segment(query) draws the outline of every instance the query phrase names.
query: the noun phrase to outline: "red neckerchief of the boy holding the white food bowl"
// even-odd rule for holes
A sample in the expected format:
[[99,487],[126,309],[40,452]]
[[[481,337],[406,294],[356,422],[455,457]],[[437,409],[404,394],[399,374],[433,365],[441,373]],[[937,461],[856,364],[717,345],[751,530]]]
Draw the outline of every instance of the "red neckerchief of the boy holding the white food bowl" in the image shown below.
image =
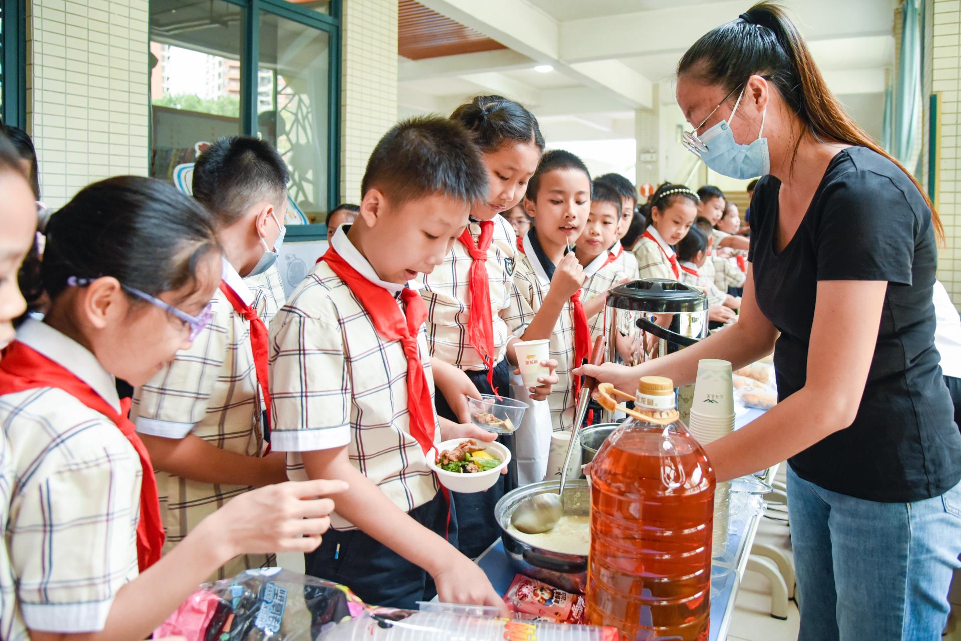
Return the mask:
[[[328,248],[323,260],[334,274],[347,284],[351,292],[357,296],[360,307],[367,311],[374,329],[383,340],[400,340],[404,346],[404,356],[407,357],[407,412],[409,418],[410,435],[413,436],[427,455],[433,448],[434,409],[431,399],[431,388],[427,383],[424,363],[420,359],[420,349],[417,346],[417,333],[427,321],[427,306],[424,299],[414,289],[405,287],[401,290],[401,301],[404,311],[397,307],[397,301],[379,284],[368,281],[360,272],[343,259],[333,245]],[[487,308],[490,308],[488,305]],[[447,501],[447,533],[451,528],[451,493],[440,484],[440,491]]]

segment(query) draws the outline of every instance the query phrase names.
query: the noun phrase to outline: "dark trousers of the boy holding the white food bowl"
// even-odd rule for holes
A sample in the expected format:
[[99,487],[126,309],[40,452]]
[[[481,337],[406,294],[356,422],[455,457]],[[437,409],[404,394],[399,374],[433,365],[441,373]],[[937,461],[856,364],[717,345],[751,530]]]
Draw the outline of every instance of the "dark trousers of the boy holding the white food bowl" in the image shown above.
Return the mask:
[[[447,500],[441,492],[407,514],[440,536],[447,530]],[[454,506],[447,540],[456,547]],[[304,566],[311,577],[346,585],[368,605],[417,609],[418,601],[431,601],[437,594],[431,575],[423,568],[360,530],[328,530],[320,547],[304,555]]]

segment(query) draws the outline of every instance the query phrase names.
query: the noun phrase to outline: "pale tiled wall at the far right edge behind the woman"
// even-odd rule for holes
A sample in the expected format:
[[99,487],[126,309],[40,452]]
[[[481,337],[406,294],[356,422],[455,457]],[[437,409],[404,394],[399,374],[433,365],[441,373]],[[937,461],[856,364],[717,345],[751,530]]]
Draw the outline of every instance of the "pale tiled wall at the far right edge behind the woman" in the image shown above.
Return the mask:
[[[961,136],[958,91],[961,82],[961,0],[934,0],[931,34],[931,90],[941,94],[941,162],[937,205],[947,247],[938,254],[938,278],[961,310]],[[926,145],[925,145],[926,153]]]

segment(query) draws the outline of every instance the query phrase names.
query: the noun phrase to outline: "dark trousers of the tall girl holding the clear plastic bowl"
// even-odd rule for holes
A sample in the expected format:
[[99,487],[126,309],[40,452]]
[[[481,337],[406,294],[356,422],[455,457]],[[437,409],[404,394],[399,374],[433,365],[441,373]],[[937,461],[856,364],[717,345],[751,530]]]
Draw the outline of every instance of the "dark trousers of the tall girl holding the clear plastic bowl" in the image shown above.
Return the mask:
[[[464,372],[471,381],[477,386],[481,394],[492,394],[490,383],[487,382],[487,372]],[[508,396],[510,393],[510,365],[506,360],[502,360],[494,366],[494,386],[501,396]],[[434,405],[437,407],[437,415],[457,420],[454,410],[447,404],[447,399],[439,392],[434,395]],[[477,558],[480,554],[490,547],[501,536],[501,529],[494,518],[494,505],[507,492],[517,487],[517,463],[514,457],[514,436],[505,434],[498,436],[498,442],[502,443],[511,453],[510,463],[507,464],[507,474],[502,475],[497,483],[486,492],[475,492],[473,494],[461,494],[451,492],[454,505],[457,506],[457,523],[460,529],[458,537],[459,550],[469,558]]]

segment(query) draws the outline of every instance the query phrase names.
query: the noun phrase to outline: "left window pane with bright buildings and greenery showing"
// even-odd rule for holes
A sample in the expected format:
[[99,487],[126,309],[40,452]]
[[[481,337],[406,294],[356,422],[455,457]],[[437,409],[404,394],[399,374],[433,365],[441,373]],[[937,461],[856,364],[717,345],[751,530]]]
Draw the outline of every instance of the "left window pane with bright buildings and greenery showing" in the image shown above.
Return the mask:
[[[198,142],[240,132],[240,23],[223,0],[151,0],[151,175],[171,180]],[[188,179],[188,177],[186,177]]]

